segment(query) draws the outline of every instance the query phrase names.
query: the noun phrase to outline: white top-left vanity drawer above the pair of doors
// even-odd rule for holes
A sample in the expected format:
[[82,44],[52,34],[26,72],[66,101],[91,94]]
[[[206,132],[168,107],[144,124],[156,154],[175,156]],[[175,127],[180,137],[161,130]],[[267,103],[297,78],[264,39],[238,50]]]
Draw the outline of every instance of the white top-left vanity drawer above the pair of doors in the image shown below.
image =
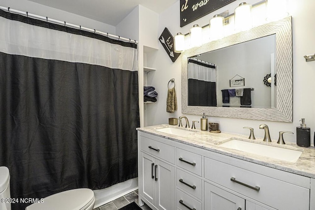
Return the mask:
[[146,137],[140,138],[140,149],[170,163],[175,163],[175,148]]

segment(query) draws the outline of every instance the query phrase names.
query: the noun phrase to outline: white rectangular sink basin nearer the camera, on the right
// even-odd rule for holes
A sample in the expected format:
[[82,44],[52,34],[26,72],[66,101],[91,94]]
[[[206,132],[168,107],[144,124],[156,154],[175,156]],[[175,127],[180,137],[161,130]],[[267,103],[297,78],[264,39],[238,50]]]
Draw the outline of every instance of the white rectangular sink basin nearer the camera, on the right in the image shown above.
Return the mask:
[[236,139],[231,139],[220,145],[224,148],[234,149],[249,152],[252,154],[258,154],[266,157],[276,158],[279,160],[285,160],[295,163],[302,151],[299,150],[290,150],[285,148],[278,148],[268,145],[261,145],[252,142],[240,141]]

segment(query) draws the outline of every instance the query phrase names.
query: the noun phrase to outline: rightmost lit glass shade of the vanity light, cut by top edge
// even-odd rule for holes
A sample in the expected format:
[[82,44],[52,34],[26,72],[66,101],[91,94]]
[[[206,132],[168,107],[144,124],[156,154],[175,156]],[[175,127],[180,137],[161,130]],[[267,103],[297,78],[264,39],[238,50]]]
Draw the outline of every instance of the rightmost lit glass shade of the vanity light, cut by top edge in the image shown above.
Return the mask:
[[266,0],[267,21],[277,21],[289,15],[287,12],[287,0]]

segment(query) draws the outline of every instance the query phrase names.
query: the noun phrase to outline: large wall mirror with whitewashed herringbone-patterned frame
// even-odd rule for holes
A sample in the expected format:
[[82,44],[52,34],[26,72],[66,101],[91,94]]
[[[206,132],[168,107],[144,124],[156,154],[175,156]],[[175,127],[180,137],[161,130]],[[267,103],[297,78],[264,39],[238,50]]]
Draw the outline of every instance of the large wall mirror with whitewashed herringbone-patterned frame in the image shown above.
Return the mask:
[[292,122],[291,17],[182,56],[185,114]]

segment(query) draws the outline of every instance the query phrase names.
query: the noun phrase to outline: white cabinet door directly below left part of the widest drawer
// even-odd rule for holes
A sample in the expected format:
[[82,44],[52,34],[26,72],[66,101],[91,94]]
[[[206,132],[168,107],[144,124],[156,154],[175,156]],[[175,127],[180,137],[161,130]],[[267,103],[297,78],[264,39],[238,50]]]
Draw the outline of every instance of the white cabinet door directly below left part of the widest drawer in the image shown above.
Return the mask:
[[205,182],[205,210],[245,210],[245,199]]

